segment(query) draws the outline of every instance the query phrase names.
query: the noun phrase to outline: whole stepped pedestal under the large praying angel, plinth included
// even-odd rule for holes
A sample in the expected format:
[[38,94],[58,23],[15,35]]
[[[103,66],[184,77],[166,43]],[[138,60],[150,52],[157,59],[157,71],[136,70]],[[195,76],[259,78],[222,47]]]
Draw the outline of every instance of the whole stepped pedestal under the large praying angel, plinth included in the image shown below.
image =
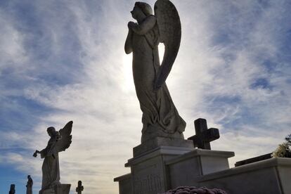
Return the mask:
[[169,189],[169,171],[165,163],[179,155],[188,153],[193,142],[180,138],[154,138],[134,148],[134,157],[125,167],[131,173],[119,176],[119,194],[152,194],[163,193]]

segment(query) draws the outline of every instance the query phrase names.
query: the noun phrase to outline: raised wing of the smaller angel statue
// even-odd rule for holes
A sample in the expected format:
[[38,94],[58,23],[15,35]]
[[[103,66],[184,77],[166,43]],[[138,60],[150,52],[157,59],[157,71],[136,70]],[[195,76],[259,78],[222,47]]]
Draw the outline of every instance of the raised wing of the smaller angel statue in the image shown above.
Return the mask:
[[58,152],[65,151],[72,143],[72,121],[68,122],[63,129],[60,129],[60,140],[56,144]]

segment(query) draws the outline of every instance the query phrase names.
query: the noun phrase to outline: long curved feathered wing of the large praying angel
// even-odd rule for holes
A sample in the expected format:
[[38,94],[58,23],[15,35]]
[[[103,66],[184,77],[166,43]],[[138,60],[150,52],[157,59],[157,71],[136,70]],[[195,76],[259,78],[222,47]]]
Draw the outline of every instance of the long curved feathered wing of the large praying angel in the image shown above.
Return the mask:
[[160,30],[160,42],[164,43],[164,58],[155,79],[155,89],[158,89],[166,81],[178,54],[181,22],[178,11],[169,0],[155,2],[155,16]]

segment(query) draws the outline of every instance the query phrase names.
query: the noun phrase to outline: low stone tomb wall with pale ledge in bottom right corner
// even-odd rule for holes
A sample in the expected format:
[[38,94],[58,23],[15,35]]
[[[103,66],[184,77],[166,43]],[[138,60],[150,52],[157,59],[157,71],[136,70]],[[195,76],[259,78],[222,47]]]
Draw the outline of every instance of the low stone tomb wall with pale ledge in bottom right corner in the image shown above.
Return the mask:
[[271,158],[207,174],[195,179],[198,186],[222,188],[228,193],[290,193],[291,159]]

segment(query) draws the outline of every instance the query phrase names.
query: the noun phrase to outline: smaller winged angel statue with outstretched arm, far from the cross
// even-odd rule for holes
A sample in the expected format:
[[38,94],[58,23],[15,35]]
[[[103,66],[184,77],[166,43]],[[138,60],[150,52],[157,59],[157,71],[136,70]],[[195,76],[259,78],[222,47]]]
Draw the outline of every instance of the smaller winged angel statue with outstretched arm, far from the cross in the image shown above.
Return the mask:
[[48,132],[48,136],[51,137],[48,140],[48,145],[46,145],[46,148],[41,151],[36,150],[33,154],[34,157],[37,157],[37,154],[40,154],[41,158],[44,158],[44,163],[41,167],[41,190],[53,188],[53,186],[60,184],[58,153],[65,151],[65,149],[69,148],[72,143],[72,123],[72,121],[68,122],[63,129],[60,129],[60,131],[56,131],[54,127],[48,127],[46,131]]

